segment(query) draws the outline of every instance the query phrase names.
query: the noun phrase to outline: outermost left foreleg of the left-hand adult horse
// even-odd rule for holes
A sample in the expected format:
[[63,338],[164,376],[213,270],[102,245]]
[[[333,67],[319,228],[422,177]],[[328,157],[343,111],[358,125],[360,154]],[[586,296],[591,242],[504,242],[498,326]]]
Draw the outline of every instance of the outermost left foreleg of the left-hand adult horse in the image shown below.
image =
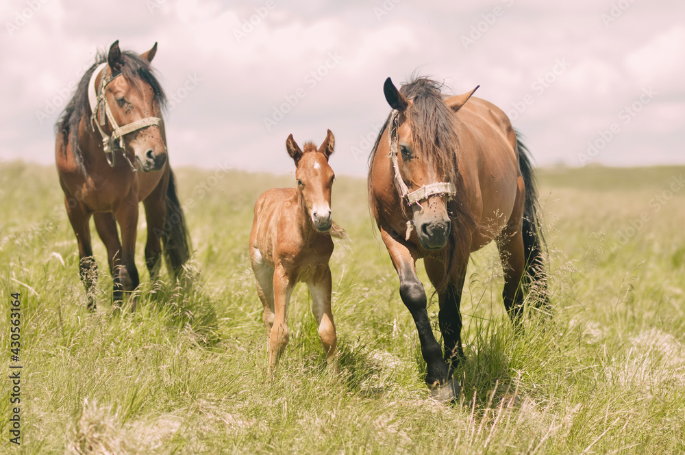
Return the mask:
[[[71,205],[73,207],[71,207]],[[76,242],[79,246],[79,275],[81,281],[86,286],[86,298],[88,299],[88,309],[95,309],[95,283],[97,283],[97,264],[92,257],[92,242],[90,239],[90,213],[86,207],[76,202],[72,196],[64,196],[66,214],[69,216],[71,227],[76,235]]]

